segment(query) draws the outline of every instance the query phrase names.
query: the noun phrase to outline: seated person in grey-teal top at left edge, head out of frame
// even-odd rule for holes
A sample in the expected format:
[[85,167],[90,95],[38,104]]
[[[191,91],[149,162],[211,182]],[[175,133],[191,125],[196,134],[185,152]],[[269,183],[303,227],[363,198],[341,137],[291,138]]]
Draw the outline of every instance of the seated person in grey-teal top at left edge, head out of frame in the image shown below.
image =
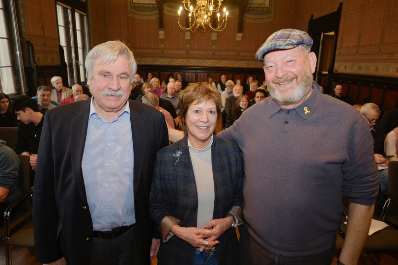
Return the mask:
[[[0,212],[15,201],[21,190],[18,186],[19,159],[14,150],[5,145],[0,139]],[[0,226],[2,222],[0,222]]]

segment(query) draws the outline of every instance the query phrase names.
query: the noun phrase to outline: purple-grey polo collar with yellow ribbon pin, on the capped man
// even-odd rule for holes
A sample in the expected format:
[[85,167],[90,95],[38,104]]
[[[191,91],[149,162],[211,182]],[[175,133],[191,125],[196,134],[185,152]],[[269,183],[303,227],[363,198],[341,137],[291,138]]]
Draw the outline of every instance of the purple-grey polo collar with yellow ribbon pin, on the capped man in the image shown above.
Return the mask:
[[320,91],[320,87],[317,83],[315,83],[313,81],[312,84],[312,89],[313,89],[313,93],[310,95],[310,97],[308,97],[308,99],[306,99],[302,104],[300,104],[299,106],[296,106],[295,108],[291,108],[291,109],[285,109],[281,106],[279,106],[278,103],[276,103],[275,101],[273,101],[271,99],[271,104],[269,106],[269,118],[272,117],[275,113],[281,111],[281,110],[289,110],[289,111],[296,111],[303,119],[307,120],[308,118],[310,118],[310,116],[313,114],[314,110],[316,109],[316,107],[319,105],[320,102],[320,98],[321,98],[321,94],[322,92]]

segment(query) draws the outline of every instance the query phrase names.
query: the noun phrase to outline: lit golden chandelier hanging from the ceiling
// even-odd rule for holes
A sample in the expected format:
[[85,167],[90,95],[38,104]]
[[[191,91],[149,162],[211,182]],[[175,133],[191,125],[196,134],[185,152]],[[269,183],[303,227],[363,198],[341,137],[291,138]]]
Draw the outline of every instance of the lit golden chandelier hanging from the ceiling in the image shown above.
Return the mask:
[[[213,4],[213,0],[197,0],[195,8],[191,4],[191,0],[182,0],[184,6],[184,12],[188,13],[189,27],[185,27],[186,23],[181,25],[180,17],[183,12],[183,6],[180,6],[178,10],[178,26],[184,30],[195,31],[200,28],[202,31],[206,31],[210,28],[213,31],[222,31],[227,27],[228,11],[227,8],[223,9],[223,17],[220,18],[219,10],[221,9],[221,2],[223,0],[217,0],[217,7]],[[217,13],[217,15],[216,15]],[[217,16],[217,22],[215,20]],[[213,19],[212,19],[213,17]]]

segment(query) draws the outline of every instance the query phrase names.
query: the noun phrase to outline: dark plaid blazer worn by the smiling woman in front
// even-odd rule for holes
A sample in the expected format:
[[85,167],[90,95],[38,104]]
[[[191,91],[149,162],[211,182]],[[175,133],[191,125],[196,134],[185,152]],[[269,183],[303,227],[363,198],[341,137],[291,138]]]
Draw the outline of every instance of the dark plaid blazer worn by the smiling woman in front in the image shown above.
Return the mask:
[[[177,150],[182,151],[178,162],[173,157]],[[234,142],[217,136],[211,146],[211,159],[215,189],[213,219],[224,218],[233,206],[243,208],[243,159]],[[150,215],[158,227],[166,216],[179,219],[182,227],[197,226],[198,194],[186,136],[158,152],[150,207]],[[218,240],[218,264],[236,264],[235,229],[227,230]],[[193,264],[195,250],[188,242],[173,236],[166,243],[161,241],[158,264]]]

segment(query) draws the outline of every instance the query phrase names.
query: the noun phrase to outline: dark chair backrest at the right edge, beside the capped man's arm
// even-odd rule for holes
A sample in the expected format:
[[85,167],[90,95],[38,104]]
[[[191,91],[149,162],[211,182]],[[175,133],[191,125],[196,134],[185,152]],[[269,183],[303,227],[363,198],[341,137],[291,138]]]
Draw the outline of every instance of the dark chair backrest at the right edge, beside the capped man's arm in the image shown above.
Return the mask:
[[398,161],[388,164],[387,191],[382,191],[387,200],[384,203],[380,219],[398,228]]

